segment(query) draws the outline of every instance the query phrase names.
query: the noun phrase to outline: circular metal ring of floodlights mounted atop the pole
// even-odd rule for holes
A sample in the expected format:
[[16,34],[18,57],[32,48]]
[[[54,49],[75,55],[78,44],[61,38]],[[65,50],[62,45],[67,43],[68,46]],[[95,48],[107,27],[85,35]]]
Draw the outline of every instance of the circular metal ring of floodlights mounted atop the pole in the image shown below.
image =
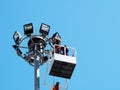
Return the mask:
[[[32,23],[28,23],[23,25],[24,29],[24,35],[26,37],[22,38],[21,34],[18,31],[15,31],[13,35],[13,39],[15,42],[15,45],[13,45],[13,48],[15,49],[18,56],[22,57],[25,61],[27,61],[29,64],[34,65],[34,59],[35,56],[39,57],[41,60],[45,60],[45,47],[47,45],[48,38],[46,37],[49,34],[50,26],[42,23],[40,26],[40,35],[33,35],[34,28]],[[27,46],[21,46],[21,43],[24,42],[24,40],[28,40]],[[21,48],[27,48],[26,53],[23,53]],[[41,62],[44,61],[40,61]]]

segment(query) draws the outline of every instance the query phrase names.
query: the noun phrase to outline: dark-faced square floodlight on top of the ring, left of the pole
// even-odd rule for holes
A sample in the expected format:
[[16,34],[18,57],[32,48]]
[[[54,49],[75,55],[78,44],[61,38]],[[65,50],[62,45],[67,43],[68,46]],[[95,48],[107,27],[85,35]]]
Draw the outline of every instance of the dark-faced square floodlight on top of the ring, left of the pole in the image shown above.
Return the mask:
[[33,33],[33,24],[29,23],[29,24],[25,24],[23,26],[24,28],[24,34],[27,36],[30,36]]

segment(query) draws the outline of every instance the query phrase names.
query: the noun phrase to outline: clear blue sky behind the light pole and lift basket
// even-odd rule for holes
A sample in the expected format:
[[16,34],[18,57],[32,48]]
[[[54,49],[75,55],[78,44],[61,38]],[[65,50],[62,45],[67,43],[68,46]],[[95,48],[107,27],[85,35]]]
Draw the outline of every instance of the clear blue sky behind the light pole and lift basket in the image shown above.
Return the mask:
[[[62,43],[77,49],[77,66],[68,90],[120,90],[120,0],[1,0],[0,90],[34,90],[34,68],[12,45],[15,30],[32,22],[59,32]],[[46,66],[41,69],[41,90]]]

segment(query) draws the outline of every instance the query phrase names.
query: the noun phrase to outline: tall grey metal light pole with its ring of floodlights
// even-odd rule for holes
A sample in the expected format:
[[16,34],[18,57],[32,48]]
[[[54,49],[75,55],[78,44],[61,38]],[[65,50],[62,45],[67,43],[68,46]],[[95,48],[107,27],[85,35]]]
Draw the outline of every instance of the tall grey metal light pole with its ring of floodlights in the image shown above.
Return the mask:
[[[48,61],[45,47],[47,43],[49,43],[47,35],[49,34],[50,26],[42,23],[39,31],[41,35],[33,35],[32,23],[25,24],[23,27],[26,37],[22,38],[21,34],[16,31],[13,35],[13,39],[15,41],[13,48],[16,50],[18,56],[22,57],[30,65],[34,66],[34,90],[40,90],[39,66]],[[26,39],[28,39],[27,46],[22,46],[21,43]],[[24,54],[21,48],[27,49]]]

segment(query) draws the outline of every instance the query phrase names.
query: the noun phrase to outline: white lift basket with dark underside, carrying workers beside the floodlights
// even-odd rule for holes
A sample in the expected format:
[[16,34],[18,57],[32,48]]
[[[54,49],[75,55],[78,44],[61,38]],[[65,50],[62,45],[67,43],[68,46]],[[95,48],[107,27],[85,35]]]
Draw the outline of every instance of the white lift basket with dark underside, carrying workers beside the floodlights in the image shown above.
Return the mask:
[[[58,45],[57,45],[58,46]],[[50,75],[70,79],[76,66],[76,50],[71,47],[60,46],[61,52],[56,52],[54,46],[53,63],[50,69]]]

